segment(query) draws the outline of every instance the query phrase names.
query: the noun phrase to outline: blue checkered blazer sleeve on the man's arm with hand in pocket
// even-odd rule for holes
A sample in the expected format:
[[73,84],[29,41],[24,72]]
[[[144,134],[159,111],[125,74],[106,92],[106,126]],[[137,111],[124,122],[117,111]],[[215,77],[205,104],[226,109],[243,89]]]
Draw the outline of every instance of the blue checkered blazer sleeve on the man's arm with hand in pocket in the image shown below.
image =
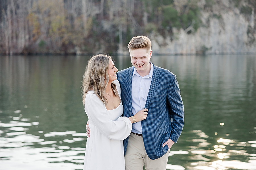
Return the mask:
[[177,143],[184,126],[184,106],[180,95],[179,84],[176,75],[172,77],[168,88],[167,99],[169,102],[169,114],[172,118],[172,131],[170,139]]

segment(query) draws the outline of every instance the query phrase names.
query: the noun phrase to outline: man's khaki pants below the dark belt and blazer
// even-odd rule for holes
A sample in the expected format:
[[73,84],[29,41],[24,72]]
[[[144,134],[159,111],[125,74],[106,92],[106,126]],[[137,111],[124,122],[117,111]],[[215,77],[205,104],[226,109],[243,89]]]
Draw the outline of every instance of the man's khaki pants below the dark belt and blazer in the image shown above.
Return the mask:
[[125,170],[166,170],[169,152],[161,158],[151,160],[145,150],[143,138],[133,133],[129,136],[125,153]]

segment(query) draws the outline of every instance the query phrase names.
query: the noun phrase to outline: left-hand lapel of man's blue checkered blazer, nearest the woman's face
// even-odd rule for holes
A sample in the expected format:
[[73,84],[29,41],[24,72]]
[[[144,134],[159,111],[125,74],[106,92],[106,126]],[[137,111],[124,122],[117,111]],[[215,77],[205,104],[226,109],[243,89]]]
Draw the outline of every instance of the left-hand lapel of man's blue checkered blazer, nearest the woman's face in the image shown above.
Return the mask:
[[132,113],[132,78],[133,78],[133,70],[134,67],[131,67],[131,69],[128,71],[128,73],[125,75],[126,83],[126,93],[128,97],[128,106],[129,111]]

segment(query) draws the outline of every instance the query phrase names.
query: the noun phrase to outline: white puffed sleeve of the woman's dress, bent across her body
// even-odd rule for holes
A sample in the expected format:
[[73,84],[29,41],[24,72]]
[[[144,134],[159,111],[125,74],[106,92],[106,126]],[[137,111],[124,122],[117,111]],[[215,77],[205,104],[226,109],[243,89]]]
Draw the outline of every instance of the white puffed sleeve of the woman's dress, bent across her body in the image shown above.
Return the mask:
[[110,120],[104,103],[96,94],[88,93],[86,95],[84,110],[88,115],[89,122],[109,139],[124,140],[130,135],[132,123],[129,118],[119,117],[115,121]]

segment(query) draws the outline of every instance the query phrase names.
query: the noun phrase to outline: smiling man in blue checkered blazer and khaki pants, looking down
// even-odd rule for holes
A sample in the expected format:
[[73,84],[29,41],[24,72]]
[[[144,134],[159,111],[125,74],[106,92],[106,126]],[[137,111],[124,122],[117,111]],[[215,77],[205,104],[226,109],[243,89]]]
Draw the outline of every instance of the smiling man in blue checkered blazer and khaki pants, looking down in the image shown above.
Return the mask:
[[[128,44],[132,67],[119,71],[123,116],[148,109],[123,141],[126,170],[165,170],[169,150],[184,126],[184,109],[176,76],[150,62],[151,41],[133,37]],[[87,126],[86,126],[87,127]]]

